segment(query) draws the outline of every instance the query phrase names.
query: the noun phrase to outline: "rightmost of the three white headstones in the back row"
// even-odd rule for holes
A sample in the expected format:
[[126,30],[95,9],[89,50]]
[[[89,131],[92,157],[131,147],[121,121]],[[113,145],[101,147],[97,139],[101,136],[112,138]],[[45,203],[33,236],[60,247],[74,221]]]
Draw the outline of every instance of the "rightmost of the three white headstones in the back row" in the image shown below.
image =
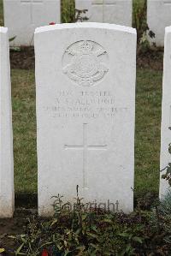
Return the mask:
[[156,34],[152,39],[157,46],[164,45],[164,29],[171,25],[171,0],[147,1],[147,24],[150,30]]

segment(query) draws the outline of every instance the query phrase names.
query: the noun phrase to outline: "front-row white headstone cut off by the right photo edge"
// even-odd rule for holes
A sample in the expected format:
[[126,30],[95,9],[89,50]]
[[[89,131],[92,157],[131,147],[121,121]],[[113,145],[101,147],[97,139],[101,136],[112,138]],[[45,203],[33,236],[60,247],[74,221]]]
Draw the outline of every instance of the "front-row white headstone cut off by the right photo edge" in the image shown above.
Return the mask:
[[[162,81],[162,127],[161,127],[161,164],[164,169],[171,163],[171,155],[168,152],[168,145],[171,143],[171,27],[166,27],[164,44],[164,70]],[[168,182],[162,179],[166,170],[161,172],[160,198],[168,190]]]

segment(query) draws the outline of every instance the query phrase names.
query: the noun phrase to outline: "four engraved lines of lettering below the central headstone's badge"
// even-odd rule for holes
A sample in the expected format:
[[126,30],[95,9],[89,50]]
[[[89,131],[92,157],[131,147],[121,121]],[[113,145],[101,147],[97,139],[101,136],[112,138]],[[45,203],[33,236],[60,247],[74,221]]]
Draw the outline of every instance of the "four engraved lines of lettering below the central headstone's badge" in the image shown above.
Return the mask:
[[116,111],[127,110],[127,107],[115,106],[112,92],[90,91],[57,91],[55,104],[45,106],[54,117],[79,118],[114,118]]

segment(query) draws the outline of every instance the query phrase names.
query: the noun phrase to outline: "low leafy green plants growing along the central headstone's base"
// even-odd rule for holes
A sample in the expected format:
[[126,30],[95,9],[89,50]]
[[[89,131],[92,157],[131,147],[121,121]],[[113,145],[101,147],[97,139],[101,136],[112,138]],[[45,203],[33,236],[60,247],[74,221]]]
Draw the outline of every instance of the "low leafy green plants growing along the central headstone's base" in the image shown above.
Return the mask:
[[[101,209],[83,211],[78,194],[74,211],[70,211],[60,195],[55,198],[53,218],[33,217],[32,221],[28,220],[25,234],[15,237],[18,244],[15,255],[152,256],[171,253],[169,233],[156,229],[156,211],[151,213],[138,208],[129,215]],[[161,208],[165,209],[166,216],[171,212],[170,202],[171,197]]]

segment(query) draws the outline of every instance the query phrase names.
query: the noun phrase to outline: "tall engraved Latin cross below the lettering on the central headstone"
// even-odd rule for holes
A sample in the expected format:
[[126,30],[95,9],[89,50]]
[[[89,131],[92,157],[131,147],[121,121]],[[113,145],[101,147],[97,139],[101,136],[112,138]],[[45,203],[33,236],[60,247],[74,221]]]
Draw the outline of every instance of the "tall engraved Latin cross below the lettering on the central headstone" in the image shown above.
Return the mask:
[[107,150],[107,145],[88,145],[87,143],[87,123],[83,123],[83,145],[65,145],[66,150],[82,150],[83,151],[83,188],[87,188],[87,152],[89,150]]

